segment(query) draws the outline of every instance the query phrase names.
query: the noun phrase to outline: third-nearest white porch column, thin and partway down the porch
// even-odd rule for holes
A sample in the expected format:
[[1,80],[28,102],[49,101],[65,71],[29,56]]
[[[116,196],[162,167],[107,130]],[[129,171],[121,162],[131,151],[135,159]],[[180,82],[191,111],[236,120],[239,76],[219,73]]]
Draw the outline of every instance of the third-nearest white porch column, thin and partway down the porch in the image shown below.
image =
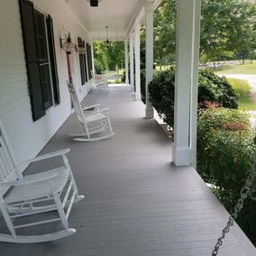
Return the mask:
[[141,100],[141,23],[135,24],[135,100]]

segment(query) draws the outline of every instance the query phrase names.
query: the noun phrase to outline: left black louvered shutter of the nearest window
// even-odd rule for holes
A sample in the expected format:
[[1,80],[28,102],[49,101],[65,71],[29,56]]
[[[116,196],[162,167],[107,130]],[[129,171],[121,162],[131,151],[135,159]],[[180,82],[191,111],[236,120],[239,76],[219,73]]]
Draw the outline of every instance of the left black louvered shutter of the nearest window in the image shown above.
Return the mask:
[[37,58],[37,43],[34,27],[33,4],[28,0],[20,0],[21,22],[23,28],[23,44],[25,51],[27,76],[32,105],[32,119],[36,121],[45,114],[41,77]]

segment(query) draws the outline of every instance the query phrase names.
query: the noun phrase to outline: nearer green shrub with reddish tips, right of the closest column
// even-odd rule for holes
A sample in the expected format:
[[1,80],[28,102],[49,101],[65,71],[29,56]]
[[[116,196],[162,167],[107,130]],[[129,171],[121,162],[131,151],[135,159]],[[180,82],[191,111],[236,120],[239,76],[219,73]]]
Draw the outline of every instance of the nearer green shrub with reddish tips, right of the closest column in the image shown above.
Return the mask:
[[[225,183],[225,180],[229,182],[233,179],[233,175],[240,175],[238,171],[233,172],[232,169],[239,169],[240,164],[244,164],[243,154],[240,151],[250,150],[249,154],[253,151],[252,137],[248,114],[227,108],[207,110],[197,121],[197,171],[207,182],[225,187],[222,182]],[[251,157],[247,159],[250,165],[246,169],[249,170]],[[230,175],[225,173],[225,177],[221,179],[223,169],[218,165],[224,165],[227,169],[230,166]],[[243,182],[244,178],[241,178],[241,181]]]

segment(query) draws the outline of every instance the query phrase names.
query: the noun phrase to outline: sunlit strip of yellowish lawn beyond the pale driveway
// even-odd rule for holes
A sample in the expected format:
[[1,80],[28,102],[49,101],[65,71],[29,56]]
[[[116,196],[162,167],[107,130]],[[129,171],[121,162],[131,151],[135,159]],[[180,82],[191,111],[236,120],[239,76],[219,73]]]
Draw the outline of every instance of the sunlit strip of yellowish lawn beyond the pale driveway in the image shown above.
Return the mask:
[[244,65],[225,65],[214,69],[216,74],[241,74],[241,75],[256,75],[256,63]]

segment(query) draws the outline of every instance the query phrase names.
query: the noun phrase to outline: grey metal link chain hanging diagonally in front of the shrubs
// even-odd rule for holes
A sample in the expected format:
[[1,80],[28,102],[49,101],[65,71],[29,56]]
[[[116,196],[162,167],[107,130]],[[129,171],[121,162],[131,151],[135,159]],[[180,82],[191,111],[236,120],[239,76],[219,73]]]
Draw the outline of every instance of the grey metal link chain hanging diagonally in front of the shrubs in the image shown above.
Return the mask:
[[220,247],[223,245],[225,235],[230,232],[230,229],[233,226],[234,221],[236,220],[238,214],[242,210],[244,200],[249,196],[251,196],[251,199],[255,199],[254,197],[252,197],[252,193],[254,190],[253,183],[255,181],[256,181],[256,152],[254,152],[253,169],[251,169],[251,174],[247,178],[245,186],[242,187],[241,189],[241,192],[240,192],[241,197],[233,208],[233,214],[230,215],[228,222],[222,231],[222,236],[218,238],[215,244],[215,249],[212,252],[212,256],[216,256],[218,254]]

